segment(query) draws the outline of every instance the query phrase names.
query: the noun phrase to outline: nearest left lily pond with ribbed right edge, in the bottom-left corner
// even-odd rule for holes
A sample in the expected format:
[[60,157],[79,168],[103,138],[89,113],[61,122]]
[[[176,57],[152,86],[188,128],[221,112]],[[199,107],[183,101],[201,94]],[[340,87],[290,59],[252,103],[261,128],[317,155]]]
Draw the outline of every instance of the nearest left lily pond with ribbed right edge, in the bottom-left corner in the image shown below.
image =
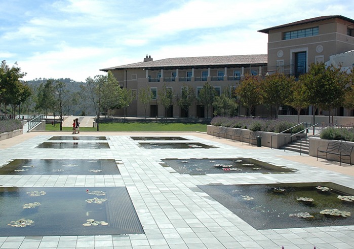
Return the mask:
[[125,187],[0,189],[2,236],[143,233]]

